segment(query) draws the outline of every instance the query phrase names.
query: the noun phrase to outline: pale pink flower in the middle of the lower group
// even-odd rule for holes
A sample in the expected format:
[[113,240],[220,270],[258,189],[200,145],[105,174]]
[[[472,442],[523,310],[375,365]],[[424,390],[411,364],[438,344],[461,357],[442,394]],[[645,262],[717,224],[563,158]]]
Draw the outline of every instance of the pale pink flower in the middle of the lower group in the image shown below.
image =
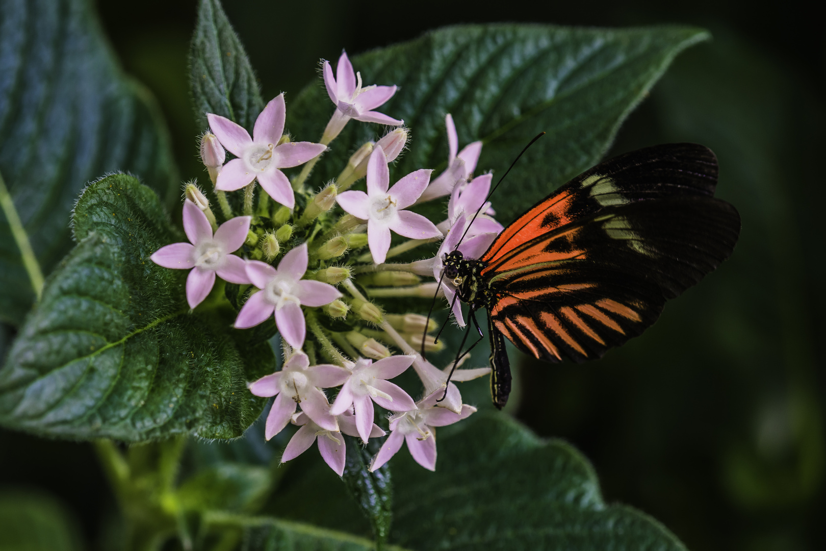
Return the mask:
[[355,407],[356,427],[363,442],[367,442],[373,426],[373,402],[390,411],[415,410],[415,403],[407,392],[387,379],[398,377],[411,367],[415,356],[390,356],[373,363],[372,359],[358,359],[353,374],[344,382],[335,398],[330,414],[337,416]]

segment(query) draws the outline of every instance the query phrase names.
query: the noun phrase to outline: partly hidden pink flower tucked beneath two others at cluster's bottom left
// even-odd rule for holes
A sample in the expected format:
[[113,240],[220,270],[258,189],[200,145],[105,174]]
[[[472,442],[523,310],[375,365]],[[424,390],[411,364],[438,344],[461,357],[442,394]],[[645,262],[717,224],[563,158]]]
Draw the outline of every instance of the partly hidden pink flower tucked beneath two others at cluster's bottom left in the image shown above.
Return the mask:
[[[299,413],[297,416],[292,416],[292,424],[301,426],[296,434],[292,436],[287,448],[284,449],[284,454],[281,456],[281,463],[286,463],[290,459],[297,458],[299,455],[306,452],[313,442],[318,439],[318,451],[325,463],[330,465],[330,468],[335,471],[339,477],[344,474],[344,459],[346,458],[347,449],[344,445],[344,438],[341,433],[350,436],[358,436],[356,431],[356,421],[352,411],[345,411],[343,415],[338,416],[339,431],[326,430],[313,422],[305,413]],[[384,436],[384,431],[378,425],[373,425],[370,430],[370,438],[378,438]]]

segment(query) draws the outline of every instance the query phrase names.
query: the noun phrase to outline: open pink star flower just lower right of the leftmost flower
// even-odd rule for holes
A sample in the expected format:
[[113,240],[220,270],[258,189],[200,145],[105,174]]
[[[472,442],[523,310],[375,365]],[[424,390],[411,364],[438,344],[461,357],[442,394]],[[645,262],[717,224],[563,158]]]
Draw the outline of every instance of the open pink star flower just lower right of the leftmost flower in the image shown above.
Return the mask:
[[246,274],[260,289],[247,299],[235,320],[236,329],[259,325],[275,312],[275,325],[284,340],[300,349],[306,336],[306,322],[301,305],[324,306],[341,297],[328,283],[301,279],[307,270],[307,245],[301,244],[281,259],[278,269],[259,260],[250,260]]

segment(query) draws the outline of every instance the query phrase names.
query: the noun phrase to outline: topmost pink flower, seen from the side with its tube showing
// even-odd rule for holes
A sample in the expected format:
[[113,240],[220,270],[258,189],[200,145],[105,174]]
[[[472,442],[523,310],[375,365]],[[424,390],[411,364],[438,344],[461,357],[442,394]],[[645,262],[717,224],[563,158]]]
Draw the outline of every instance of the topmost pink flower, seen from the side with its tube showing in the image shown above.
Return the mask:
[[362,88],[361,74],[354,71],[346,52],[342,52],[339,57],[335,77],[333,77],[333,68],[330,67],[329,61],[324,62],[323,72],[327,95],[336,107],[333,117],[327,123],[324,136],[321,138],[325,144],[329,144],[335,136],[339,135],[350,119],[391,126],[404,124],[405,121],[398,121],[392,116],[373,111],[393,97],[396,93],[396,86],[372,84]]

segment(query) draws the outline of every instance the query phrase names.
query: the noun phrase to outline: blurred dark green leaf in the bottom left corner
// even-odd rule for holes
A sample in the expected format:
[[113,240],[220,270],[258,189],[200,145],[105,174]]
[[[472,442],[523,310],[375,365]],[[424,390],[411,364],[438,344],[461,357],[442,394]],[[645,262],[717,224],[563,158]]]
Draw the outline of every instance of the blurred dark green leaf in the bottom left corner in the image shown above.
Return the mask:
[[78,551],[77,530],[54,497],[40,493],[0,493],[2,551]]

